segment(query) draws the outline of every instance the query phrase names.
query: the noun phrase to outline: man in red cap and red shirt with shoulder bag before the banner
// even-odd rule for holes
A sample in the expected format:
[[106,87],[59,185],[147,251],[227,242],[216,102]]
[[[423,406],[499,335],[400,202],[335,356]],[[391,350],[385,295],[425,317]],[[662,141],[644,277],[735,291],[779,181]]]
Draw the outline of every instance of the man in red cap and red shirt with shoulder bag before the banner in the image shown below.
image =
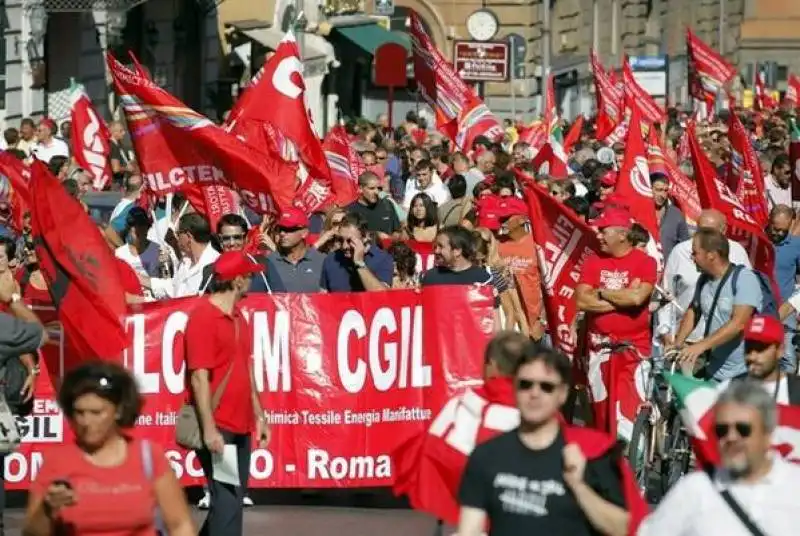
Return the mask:
[[[205,447],[197,457],[211,494],[208,517],[200,531],[207,536],[243,534],[242,498],[250,476],[250,435],[260,447],[269,439],[252,366],[251,340],[238,302],[250,278],[264,269],[243,251],[228,251],[214,263],[215,291],[202,299],[186,324],[186,368],[191,400],[203,430]],[[236,448],[240,485],[214,480],[212,453]]]

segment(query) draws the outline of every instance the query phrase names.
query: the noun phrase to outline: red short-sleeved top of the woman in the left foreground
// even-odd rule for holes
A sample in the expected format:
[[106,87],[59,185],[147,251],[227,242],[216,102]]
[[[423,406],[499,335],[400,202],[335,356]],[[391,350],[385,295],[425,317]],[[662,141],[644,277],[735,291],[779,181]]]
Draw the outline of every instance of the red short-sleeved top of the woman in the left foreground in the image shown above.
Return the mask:
[[55,480],[66,480],[78,500],[61,510],[62,534],[103,536],[155,536],[154,482],[171,471],[164,450],[148,442],[152,475],[142,459],[142,442],[128,440],[122,465],[98,467],[74,443],[58,445],[44,453],[44,463],[30,493],[43,496]]

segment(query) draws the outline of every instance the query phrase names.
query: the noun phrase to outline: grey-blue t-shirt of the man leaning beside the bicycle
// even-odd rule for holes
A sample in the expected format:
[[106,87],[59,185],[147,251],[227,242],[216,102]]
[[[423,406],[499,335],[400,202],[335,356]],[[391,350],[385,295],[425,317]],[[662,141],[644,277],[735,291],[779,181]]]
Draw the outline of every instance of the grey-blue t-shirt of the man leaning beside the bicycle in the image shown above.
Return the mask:
[[[733,293],[733,280],[736,273],[731,273],[725,286],[719,294],[717,307],[714,309],[714,316],[709,320],[708,312],[711,309],[711,302],[717,292],[722,278],[709,279],[700,291],[700,305],[702,314],[699,329],[704,329],[707,322],[711,322],[708,334],[711,335],[728,323],[733,315],[733,308],[737,305],[749,305],[756,310],[761,306],[761,285],[758,277],[748,268],[741,268],[736,282],[736,295]],[[702,326],[702,327],[701,327]],[[700,332],[704,333],[703,331]],[[744,341],[741,333],[711,351],[711,362],[708,371],[715,380],[727,380],[740,376],[747,372],[744,363]]]

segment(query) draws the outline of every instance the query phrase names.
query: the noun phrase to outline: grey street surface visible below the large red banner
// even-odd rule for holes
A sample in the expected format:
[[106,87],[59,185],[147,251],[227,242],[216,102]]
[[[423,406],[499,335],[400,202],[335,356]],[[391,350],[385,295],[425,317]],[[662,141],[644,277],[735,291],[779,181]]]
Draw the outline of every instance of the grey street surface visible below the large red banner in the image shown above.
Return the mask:
[[[195,493],[191,495],[194,497]],[[271,501],[273,505],[246,510],[247,535],[433,536],[436,529],[436,522],[430,517],[403,508],[382,492],[377,496],[326,492],[312,497],[299,493],[261,493],[253,498],[257,504]],[[12,502],[19,507],[6,512],[6,536],[21,536],[23,510],[19,500]],[[205,512],[194,510],[198,527],[204,517]]]

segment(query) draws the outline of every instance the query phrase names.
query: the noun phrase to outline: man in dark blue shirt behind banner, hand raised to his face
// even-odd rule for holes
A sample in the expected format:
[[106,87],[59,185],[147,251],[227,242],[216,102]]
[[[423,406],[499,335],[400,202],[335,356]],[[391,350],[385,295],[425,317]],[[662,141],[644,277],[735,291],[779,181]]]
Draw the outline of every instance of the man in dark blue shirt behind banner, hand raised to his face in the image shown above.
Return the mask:
[[[362,175],[363,176],[363,175]],[[358,214],[345,216],[339,227],[341,249],[322,263],[320,286],[328,292],[382,291],[391,288],[392,256],[372,244],[367,222]]]

